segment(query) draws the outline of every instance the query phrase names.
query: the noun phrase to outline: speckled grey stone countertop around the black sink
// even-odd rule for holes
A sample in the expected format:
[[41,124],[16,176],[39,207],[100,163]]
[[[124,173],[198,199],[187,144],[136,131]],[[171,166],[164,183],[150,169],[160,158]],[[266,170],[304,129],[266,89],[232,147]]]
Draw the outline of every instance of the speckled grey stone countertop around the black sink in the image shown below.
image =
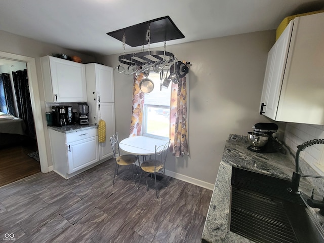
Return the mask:
[[[285,149],[286,154],[257,153],[247,149],[248,146],[247,136],[230,134],[226,140],[201,242],[254,242],[228,230],[232,167],[291,180],[295,165],[289,150]],[[312,187],[302,177],[299,190],[310,195]],[[321,198],[315,191],[314,199]],[[309,209],[318,224],[324,227],[324,217],[318,214],[318,209]]]

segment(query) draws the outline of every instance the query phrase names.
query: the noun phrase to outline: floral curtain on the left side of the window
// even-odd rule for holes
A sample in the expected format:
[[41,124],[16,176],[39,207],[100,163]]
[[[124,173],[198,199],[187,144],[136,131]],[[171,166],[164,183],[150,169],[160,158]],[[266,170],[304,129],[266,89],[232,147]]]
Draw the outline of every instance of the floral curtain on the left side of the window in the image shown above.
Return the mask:
[[139,84],[144,78],[143,73],[135,75],[133,82],[133,108],[130,137],[142,135],[142,120],[143,120],[143,106],[144,106],[144,93],[140,90]]

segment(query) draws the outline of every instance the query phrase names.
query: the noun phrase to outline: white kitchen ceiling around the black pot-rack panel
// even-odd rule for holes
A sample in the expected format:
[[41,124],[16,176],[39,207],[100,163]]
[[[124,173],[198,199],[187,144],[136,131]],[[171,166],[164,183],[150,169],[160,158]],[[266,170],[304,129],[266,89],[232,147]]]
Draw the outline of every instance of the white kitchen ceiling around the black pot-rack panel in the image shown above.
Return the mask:
[[[85,54],[110,55],[123,53],[123,43],[107,32],[164,16],[170,16],[185,36],[168,41],[168,49],[199,39],[276,29],[287,16],[321,9],[323,0],[1,0],[0,30]],[[155,43],[150,48],[163,46]],[[139,50],[126,45],[126,52]]]

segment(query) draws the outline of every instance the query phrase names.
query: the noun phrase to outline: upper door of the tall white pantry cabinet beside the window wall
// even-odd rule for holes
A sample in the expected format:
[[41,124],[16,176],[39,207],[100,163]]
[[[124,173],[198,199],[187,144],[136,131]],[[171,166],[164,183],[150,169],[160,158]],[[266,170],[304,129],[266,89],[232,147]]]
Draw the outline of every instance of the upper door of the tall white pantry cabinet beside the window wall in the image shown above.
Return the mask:
[[96,64],[97,102],[114,102],[113,68]]

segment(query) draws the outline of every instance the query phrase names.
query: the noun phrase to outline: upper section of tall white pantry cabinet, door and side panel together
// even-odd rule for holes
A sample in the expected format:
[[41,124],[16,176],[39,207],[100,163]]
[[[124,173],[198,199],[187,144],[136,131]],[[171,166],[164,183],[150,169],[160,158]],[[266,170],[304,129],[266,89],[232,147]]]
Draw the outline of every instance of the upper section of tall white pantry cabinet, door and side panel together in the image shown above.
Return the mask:
[[89,98],[97,103],[114,102],[113,68],[98,63],[86,64]]

